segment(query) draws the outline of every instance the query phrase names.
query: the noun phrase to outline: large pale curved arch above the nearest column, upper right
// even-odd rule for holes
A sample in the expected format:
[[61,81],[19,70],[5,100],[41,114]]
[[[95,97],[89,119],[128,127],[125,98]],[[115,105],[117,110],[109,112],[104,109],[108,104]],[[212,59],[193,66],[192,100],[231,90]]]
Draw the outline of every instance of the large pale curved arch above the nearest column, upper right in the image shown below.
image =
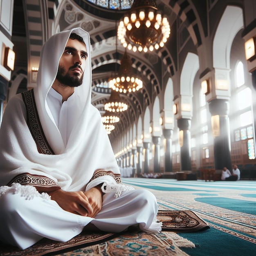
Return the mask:
[[243,26],[243,10],[240,7],[227,6],[213,40],[214,68],[229,69],[231,45]]

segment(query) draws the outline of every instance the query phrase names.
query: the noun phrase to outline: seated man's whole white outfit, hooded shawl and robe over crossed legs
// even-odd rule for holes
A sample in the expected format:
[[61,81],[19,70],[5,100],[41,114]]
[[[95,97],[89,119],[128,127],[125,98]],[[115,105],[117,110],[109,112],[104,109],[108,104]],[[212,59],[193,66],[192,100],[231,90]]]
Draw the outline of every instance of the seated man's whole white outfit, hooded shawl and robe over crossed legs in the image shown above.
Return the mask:
[[[65,141],[47,103],[47,94],[71,32],[85,41],[88,58],[83,83],[74,92],[77,106],[74,107],[74,126],[68,128]],[[121,184],[119,167],[101,115],[91,104],[91,81],[90,37],[86,31],[71,29],[47,40],[41,51],[34,100],[40,119],[36,127],[42,126],[51,149],[47,152],[54,154],[39,152],[27,125],[30,112],[22,96],[18,94],[8,102],[0,128],[1,241],[21,249],[43,237],[67,241],[89,222],[110,232],[122,231],[130,225],[139,225],[150,232],[161,230],[161,223],[156,221],[155,196]],[[101,189],[106,194],[102,210],[94,219],[64,211],[55,201],[49,200],[47,193],[41,193],[58,188],[88,191],[99,184],[103,184]]]

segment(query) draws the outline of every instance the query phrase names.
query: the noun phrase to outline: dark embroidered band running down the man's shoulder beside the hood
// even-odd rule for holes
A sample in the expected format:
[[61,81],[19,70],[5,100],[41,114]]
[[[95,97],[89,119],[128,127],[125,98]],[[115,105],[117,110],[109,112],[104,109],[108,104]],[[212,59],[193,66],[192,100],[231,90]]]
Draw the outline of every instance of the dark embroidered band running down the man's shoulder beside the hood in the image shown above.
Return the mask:
[[54,151],[48,144],[43,128],[40,124],[34,97],[34,89],[22,92],[22,99],[27,110],[27,126],[29,127],[31,135],[36,142],[38,152],[46,155],[54,155]]

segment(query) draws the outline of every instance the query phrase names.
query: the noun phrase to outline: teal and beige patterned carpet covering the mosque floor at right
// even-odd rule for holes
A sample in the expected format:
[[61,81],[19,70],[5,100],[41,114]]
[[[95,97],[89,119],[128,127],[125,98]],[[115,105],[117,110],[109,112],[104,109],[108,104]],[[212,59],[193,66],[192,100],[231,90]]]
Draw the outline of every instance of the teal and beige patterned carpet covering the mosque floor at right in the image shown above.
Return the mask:
[[209,224],[205,231],[179,233],[195,244],[195,248],[182,248],[186,254],[256,255],[256,181],[123,178],[123,183],[150,190],[159,209],[191,210]]

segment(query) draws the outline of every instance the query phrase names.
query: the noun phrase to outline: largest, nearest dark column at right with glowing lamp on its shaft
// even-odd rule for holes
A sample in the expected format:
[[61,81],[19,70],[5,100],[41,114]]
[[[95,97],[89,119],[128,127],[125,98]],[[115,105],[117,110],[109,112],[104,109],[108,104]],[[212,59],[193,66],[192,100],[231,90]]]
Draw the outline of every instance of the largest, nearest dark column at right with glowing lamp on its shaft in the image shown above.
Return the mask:
[[211,115],[220,116],[220,136],[214,138],[214,165],[220,170],[227,167],[231,170],[231,144],[229,130],[229,101],[213,99],[209,101]]

